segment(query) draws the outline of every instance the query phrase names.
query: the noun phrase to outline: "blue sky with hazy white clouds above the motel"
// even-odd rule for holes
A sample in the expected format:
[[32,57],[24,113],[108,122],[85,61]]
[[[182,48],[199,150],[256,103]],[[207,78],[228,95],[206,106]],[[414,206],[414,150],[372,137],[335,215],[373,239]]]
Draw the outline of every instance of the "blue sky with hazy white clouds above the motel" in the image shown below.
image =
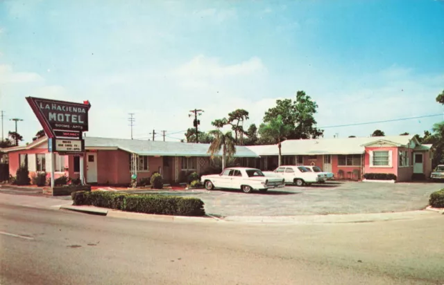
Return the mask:
[[[90,100],[87,136],[183,138],[243,108],[259,124],[304,90],[318,127],[443,113],[444,2],[0,2],[0,109],[26,141],[41,129],[25,96]],[[325,137],[431,129],[443,116],[325,129]],[[5,122],[5,134],[14,125]],[[159,140],[160,136],[156,137]]]

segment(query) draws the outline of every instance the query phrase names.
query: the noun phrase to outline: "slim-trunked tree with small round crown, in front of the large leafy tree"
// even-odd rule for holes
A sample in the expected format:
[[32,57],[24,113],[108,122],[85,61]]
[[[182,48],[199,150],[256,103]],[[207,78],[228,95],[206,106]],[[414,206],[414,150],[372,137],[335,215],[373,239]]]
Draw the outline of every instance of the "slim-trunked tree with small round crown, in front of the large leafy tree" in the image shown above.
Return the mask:
[[287,139],[287,136],[291,134],[293,130],[292,125],[285,125],[282,120],[282,116],[278,115],[276,118],[271,119],[270,122],[266,124],[261,124],[259,126],[259,135],[265,138],[273,140],[274,143],[278,144],[279,158],[278,166],[281,165],[282,155],[281,155],[281,143],[283,140]]

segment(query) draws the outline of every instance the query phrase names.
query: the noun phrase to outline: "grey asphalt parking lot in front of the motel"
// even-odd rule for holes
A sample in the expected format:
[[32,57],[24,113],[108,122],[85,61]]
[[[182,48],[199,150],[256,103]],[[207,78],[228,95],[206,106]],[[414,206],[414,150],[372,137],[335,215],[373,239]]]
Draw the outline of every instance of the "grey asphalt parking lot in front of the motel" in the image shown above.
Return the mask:
[[165,194],[200,198],[208,214],[222,217],[293,216],[422,210],[428,205],[429,195],[442,188],[444,183],[329,182],[309,187],[287,186],[264,194],[246,194],[240,190]]

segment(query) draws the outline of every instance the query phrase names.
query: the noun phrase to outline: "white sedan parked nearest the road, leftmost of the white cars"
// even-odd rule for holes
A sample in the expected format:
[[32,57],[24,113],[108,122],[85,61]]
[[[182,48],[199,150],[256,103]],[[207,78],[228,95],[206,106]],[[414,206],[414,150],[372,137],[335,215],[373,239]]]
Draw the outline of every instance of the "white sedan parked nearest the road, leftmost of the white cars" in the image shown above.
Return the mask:
[[245,193],[253,190],[266,192],[270,188],[285,186],[283,178],[266,177],[259,169],[249,167],[225,168],[221,174],[203,175],[200,181],[206,190],[240,189]]

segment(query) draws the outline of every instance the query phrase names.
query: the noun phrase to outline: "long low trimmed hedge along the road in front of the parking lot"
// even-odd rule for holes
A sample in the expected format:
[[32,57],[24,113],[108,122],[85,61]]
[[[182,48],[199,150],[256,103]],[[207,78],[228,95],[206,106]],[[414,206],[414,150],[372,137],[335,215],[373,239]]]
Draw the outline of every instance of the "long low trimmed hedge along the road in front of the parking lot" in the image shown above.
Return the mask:
[[71,198],[74,201],[73,205],[94,205],[126,212],[196,217],[205,215],[203,201],[197,198],[102,191],[73,192]]

